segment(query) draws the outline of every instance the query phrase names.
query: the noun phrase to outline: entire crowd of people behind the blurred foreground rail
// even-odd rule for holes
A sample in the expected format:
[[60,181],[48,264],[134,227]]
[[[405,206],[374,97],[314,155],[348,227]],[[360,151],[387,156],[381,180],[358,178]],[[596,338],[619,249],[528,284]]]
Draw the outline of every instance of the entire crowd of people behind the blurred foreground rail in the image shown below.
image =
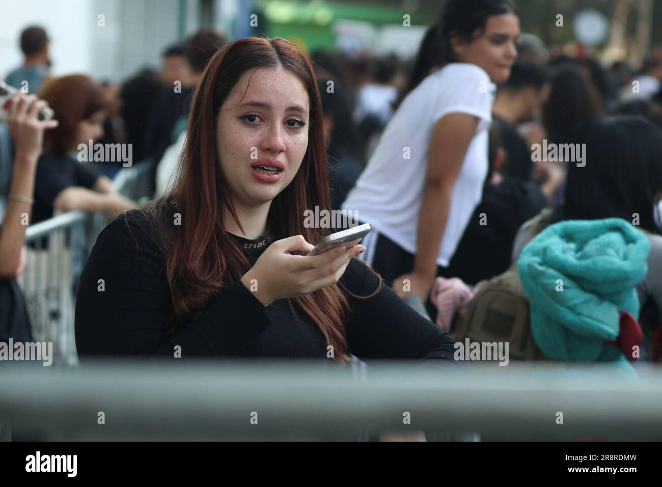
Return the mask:
[[[81,357],[445,364],[509,273],[545,358],[662,360],[659,52],[639,71],[552,57],[512,0],[448,0],[408,62],[204,29],[117,85],[53,78],[48,42],[26,28],[6,77],[36,95],[0,125],[0,341],[31,339],[22,215],[79,209],[111,217],[78,285]],[[130,144],[153,197],[113,190],[125,161],[81,161],[93,142]],[[372,231],[308,255],[336,230],[304,225],[315,207]]]

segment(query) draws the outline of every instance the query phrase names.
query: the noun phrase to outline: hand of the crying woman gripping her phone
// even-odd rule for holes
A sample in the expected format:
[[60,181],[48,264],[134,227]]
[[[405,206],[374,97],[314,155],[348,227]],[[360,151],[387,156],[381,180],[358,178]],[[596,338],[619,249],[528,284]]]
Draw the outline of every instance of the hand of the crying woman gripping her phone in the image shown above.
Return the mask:
[[[277,299],[305,296],[340,280],[350,259],[365,250],[365,246],[357,245],[359,241],[356,239],[317,255],[308,255],[314,245],[303,235],[275,241],[242,276],[241,282],[253,290],[265,307]],[[290,253],[296,250],[303,255]]]

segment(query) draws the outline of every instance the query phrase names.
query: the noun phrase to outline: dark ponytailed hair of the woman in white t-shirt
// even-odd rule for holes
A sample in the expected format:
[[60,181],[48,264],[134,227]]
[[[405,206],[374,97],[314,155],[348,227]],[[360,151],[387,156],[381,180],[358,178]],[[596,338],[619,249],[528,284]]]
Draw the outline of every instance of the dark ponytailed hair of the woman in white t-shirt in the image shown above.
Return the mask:
[[514,13],[512,0],[447,0],[439,21],[428,27],[420,43],[414,69],[396,107],[437,66],[457,62],[451,47],[451,36],[471,40],[477,29],[484,29],[487,17]]

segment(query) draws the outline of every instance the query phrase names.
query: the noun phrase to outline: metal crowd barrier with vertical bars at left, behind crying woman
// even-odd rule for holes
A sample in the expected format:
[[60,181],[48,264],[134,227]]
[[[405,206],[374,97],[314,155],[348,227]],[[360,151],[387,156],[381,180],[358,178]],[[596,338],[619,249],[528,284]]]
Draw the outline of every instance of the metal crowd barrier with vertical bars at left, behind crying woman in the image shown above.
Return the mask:
[[[147,196],[150,164],[122,168],[113,180],[118,193],[134,201]],[[80,274],[106,215],[70,211],[30,225],[28,258],[18,283],[25,298],[35,341],[52,342],[56,363],[76,364],[73,311]]]

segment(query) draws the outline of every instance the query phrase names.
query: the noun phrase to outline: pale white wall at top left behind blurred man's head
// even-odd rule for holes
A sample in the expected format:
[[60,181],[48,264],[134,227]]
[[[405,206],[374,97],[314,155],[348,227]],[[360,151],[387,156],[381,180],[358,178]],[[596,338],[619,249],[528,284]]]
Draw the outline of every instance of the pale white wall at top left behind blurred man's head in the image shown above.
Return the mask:
[[[185,0],[195,12],[195,0]],[[120,81],[143,66],[160,66],[164,48],[179,41],[179,0],[0,0],[0,77],[19,66],[21,30],[46,28],[52,73],[91,74]],[[192,4],[192,5],[191,5]],[[191,8],[192,7],[192,8]],[[99,27],[98,16],[105,16]],[[188,19],[193,29],[197,18]]]

